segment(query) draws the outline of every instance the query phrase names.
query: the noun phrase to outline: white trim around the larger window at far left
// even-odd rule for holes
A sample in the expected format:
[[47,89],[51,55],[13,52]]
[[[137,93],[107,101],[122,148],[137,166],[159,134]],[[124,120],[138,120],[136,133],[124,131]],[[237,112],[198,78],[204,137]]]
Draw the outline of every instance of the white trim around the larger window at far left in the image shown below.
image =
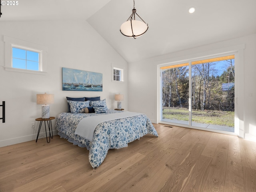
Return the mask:
[[[27,42],[24,40],[4,36],[4,42],[5,42],[5,70],[6,71],[14,71],[14,72],[25,72],[25,73],[32,73],[32,74],[42,74],[46,75],[46,53],[47,53],[47,47],[39,44],[34,44],[31,42]],[[26,48],[26,50],[37,50],[37,52],[40,52],[40,58],[39,58],[39,71],[35,70],[26,70],[26,69],[19,69],[19,68],[12,68],[12,47],[15,48]]]

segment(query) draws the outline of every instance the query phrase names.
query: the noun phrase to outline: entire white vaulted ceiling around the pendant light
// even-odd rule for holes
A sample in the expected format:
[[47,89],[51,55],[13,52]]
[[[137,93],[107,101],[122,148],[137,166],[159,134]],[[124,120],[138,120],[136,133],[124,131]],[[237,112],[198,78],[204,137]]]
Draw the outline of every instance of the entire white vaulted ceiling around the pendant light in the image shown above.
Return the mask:
[[[1,0],[2,1],[2,0]],[[20,0],[1,6],[7,20],[84,19],[127,61],[134,62],[256,33],[256,0],[135,0],[148,31],[120,33],[132,0]],[[196,12],[189,14],[194,6]]]

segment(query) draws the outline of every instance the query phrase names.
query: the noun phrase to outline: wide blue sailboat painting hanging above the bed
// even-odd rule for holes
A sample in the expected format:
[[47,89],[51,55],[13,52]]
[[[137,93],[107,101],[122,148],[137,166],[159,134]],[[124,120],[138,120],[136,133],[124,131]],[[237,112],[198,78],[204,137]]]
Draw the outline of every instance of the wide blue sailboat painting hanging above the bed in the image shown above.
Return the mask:
[[102,73],[62,67],[62,90],[102,91]]

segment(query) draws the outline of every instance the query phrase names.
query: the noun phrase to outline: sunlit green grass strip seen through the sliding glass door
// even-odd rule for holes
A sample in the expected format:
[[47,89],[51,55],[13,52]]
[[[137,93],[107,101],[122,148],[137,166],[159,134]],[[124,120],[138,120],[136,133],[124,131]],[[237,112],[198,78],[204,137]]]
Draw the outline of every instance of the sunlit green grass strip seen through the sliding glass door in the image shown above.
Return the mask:
[[[163,108],[163,118],[188,121],[188,109]],[[192,110],[192,121],[234,127],[234,112],[217,110]]]

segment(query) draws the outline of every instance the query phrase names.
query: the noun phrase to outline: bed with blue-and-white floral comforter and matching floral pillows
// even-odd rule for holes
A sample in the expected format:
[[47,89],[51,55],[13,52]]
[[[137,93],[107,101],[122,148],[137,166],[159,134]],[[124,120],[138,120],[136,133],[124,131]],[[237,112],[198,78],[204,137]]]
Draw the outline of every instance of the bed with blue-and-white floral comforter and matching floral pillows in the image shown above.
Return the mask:
[[[73,105],[74,103],[75,105]],[[153,124],[145,114],[127,112],[127,117],[120,118],[126,112],[109,110],[105,100],[85,103],[81,101],[69,102],[71,111],[58,114],[56,130],[58,130],[58,135],[61,138],[66,138],[69,142],[80,147],[86,147],[89,150],[89,162],[94,169],[102,164],[109,149],[126,147],[128,143],[140,139],[146,134],[158,137]],[[98,111],[99,108],[100,111]],[[84,111],[86,110],[93,110],[93,112],[85,113]],[[106,120],[107,116],[112,116],[112,118]],[[120,117],[113,118],[113,116]],[[78,129],[87,130],[89,128],[88,122],[91,121],[90,118],[103,118],[98,124],[96,123],[92,138],[88,135],[81,136],[80,133],[76,134]]]

